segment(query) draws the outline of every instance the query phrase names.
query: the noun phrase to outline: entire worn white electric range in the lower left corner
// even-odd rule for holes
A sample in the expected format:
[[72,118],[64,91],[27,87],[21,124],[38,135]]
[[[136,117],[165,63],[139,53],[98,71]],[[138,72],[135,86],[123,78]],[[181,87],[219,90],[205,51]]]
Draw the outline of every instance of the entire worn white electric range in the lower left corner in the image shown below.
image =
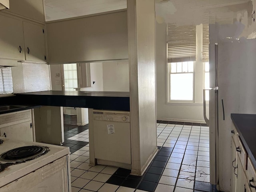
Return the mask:
[[0,137],[1,192],[71,192],[69,148]]

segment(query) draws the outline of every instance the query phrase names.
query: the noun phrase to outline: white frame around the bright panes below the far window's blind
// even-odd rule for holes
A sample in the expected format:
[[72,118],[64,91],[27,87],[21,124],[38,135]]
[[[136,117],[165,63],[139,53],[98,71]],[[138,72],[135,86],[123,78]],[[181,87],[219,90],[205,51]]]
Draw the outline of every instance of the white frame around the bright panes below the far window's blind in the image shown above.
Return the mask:
[[[194,103],[195,102],[195,65],[196,62],[193,62],[193,72],[171,72],[171,64],[177,62],[168,62],[167,63],[167,76],[168,76],[168,83],[167,83],[167,103]],[[171,100],[171,74],[193,74],[193,99],[192,100]]]

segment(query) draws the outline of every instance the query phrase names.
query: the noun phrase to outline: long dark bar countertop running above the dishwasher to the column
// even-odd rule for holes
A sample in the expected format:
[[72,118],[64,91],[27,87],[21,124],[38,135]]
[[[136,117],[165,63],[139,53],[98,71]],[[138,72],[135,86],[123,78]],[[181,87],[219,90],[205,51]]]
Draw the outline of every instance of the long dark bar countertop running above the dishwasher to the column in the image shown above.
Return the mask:
[[[14,99],[15,98],[15,99]],[[129,92],[38,91],[17,93],[12,104],[130,111]]]

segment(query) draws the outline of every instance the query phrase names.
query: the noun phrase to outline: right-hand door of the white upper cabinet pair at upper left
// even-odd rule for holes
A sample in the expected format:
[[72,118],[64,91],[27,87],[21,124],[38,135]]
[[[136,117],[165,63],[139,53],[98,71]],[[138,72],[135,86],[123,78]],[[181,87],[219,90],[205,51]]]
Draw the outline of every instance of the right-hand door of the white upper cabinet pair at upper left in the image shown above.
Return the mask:
[[23,22],[24,44],[27,61],[46,62],[44,28],[42,26]]

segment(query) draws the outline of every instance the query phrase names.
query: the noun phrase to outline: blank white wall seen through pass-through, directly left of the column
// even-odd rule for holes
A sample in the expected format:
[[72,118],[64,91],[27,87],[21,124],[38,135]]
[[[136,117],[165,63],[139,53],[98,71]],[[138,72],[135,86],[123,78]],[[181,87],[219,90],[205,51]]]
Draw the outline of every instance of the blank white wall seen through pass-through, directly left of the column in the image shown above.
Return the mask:
[[104,62],[103,91],[129,91],[129,64],[123,62]]

